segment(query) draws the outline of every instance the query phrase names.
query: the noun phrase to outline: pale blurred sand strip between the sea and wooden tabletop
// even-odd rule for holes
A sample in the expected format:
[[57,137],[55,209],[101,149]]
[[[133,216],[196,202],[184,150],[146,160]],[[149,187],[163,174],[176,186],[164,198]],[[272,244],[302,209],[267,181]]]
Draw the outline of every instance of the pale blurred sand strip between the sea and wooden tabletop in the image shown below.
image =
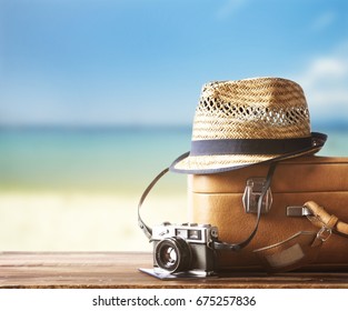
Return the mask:
[[[186,195],[150,195],[149,225],[187,220]],[[137,195],[0,193],[1,251],[151,251],[137,222]]]

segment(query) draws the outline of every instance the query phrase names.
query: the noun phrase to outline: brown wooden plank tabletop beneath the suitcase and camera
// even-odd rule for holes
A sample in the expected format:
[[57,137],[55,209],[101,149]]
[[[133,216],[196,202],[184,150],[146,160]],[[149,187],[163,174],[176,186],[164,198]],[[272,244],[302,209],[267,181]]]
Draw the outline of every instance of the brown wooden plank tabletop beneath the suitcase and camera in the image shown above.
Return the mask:
[[138,271],[151,253],[2,252],[0,288],[344,288],[348,273],[233,273],[228,278],[162,281]]

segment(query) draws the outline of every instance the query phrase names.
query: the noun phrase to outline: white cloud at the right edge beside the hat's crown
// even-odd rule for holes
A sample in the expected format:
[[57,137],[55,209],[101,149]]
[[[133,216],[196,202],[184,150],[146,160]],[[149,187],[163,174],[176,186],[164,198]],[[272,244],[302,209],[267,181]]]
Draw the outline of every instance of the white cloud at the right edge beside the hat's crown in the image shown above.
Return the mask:
[[315,58],[296,81],[304,88],[314,121],[348,124],[348,44]]

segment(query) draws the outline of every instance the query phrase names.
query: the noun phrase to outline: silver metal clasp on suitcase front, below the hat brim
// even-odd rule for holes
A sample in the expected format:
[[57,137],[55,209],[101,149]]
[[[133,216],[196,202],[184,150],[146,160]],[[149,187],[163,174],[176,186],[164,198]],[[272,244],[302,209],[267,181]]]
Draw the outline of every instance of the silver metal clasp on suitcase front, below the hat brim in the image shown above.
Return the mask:
[[[245,193],[242,195],[242,204],[247,213],[257,213],[259,198],[262,193],[264,185],[266,184],[266,178],[249,178]],[[270,188],[268,188],[261,205],[261,213],[268,213],[272,204],[272,194]]]

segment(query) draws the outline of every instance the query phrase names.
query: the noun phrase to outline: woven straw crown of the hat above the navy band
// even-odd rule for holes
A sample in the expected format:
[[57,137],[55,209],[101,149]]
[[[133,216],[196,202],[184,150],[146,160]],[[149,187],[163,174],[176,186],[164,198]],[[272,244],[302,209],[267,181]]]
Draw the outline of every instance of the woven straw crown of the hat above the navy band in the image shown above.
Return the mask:
[[203,86],[192,140],[310,137],[299,84],[281,78],[217,81]]

